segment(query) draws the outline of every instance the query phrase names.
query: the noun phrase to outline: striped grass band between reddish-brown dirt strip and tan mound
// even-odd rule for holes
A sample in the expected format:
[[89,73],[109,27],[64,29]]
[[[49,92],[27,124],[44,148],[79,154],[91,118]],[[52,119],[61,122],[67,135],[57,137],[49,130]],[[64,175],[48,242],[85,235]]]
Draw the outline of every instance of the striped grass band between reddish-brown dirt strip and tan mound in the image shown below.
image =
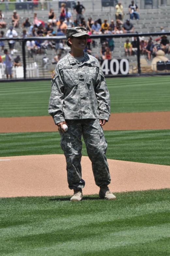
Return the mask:
[[[170,130],[104,131],[104,135],[109,159],[170,165]],[[0,156],[63,154],[58,132],[0,134],[0,143]],[[82,154],[87,156],[84,141]]]

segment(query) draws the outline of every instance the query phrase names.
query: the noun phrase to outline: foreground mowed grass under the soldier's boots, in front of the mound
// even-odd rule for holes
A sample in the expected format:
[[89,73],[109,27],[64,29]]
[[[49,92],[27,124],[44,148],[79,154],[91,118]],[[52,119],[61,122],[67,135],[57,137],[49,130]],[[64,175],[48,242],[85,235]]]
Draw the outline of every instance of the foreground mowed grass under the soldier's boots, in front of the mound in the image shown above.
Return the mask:
[[1,198],[0,254],[155,256],[156,246],[158,255],[169,255],[169,192],[115,193],[114,202],[98,195],[78,203],[70,197]]

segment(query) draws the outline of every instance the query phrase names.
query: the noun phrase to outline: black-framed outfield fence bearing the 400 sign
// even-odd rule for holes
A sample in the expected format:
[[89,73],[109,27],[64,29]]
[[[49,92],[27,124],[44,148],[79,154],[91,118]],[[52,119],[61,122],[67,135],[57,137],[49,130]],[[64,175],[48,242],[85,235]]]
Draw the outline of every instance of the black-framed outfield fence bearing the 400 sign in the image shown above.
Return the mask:
[[[139,39],[142,36],[152,36],[152,38],[159,37],[161,35],[170,35],[170,32],[163,33],[132,33],[132,34],[111,34],[111,35],[92,35],[91,39],[95,41],[94,49],[97,49],[98,54],[93,51],[92,55],[96,56],[101,65],[101,69],[103,70],[106,76],[123,76],[123,75],[135,75],[135,74],[160,74],[160,73],[170,73],[169,64],[170,55],[167,53],[164,56],[164,61],[162,62],[161,58],[157,59],[157,62],[153,62],[153,58],[151,57],[150,61],[147,61],[146,55],[141,55]],[[124,51],[124,42],[126,39],[131,41],[132,37],[137,38],[137,49],[134,50],[133,55],[126,56]],[[102,59],[100,55],[101,43],[100,41],[107,40],[110,38],[114,39],[117,44],[119,44],[120,51],[114,52],[112,51],[112,56],[110,59]],[[43,40],[42,40],[43,39]],[[50,79],[51,73],[55,69],[56,61],[55,56],[57,55],[56,48],[53,48],[56,40],[66,39],[66,37],[36,37],[36,38],[13,38],[15,41],[15,52],[13,58],[15,56],[20,56],[20,65],[13,66],[12,73],[13,79]],[[7,48],[8,42],[7,40],[11,40],[11,38],[2,38],[1,41],[5,43],[4,48]],[[48,47],[41,47],[33,52],[27,47],[26,42],[32,40],[41,40],[41,45],[43,42],[48,42]],[[91,46],[93,47],[93,46]],[[63,47],[62,56],[66,55],[69,52],[68,47]],[[37,51],[39,51],[37,53]],[[6,79],[5,74],[5,55],[2,56],[2,62],[0,63],[0,79]],[[160,63],[158,63],[161,61]],[[161,66],[162,65],[162,66]]]

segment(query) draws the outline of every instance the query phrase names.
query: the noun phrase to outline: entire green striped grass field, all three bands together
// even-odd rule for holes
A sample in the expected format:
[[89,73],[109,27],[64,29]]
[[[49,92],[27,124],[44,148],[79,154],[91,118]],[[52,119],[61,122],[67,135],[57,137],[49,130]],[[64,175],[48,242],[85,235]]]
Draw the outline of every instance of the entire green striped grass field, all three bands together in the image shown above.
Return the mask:
[[[112,78],[107,85],[112,113],[170,111],[169,76]],[[50,87],[1,83],[0,117],[48,115]],[[104,134],[107,158],[170,165],[170,130]],[[62,153],[58,132],[0,134],[0,156]],[[114,194],[114,201],[90,195],[72,203],[70,196],[0,198],[0,255],[170,255],[170,189]]]

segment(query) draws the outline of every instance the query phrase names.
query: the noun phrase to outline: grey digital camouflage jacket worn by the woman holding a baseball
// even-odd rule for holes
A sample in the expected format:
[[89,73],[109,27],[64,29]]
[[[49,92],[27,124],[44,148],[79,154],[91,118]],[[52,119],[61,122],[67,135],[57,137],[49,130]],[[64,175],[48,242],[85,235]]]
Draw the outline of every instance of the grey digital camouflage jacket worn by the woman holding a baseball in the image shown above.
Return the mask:
[[85,53],[79,63],[69,53],[58,61],[52,76],[48,112],[55,124],[65,119],[109,119],[109,91],[95,57]]

